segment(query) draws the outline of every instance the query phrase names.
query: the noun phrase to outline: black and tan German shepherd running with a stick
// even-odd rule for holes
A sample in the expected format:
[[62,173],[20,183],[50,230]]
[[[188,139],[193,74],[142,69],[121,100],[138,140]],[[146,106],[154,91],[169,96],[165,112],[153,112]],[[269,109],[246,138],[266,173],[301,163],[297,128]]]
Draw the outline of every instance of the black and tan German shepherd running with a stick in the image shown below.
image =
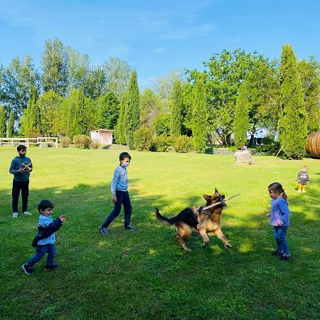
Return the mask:
[[[203,198],[207,201],[206,206],[210,206],[213,203],[223,201],[225,196],[220,195],[218,190],[215,189],[215,193],[213,193],[212,196],[204,194]],[[223,242],[225,247],[231,247],[230,243],[221,231],[221,213],[225,206],[227,206],[226,203],[221,203],[218,206],[206,210],[198,210],[196,206],[191,206],[183,209],[181,213],[171,219],[161,215],[158,208],[156,208],[155,215],[162,223],[166,225],[175,225],[177,233],[174,238],[186,251],[191,251],[186,246],[186,240],[190,237],[192,228],[198,230],[200,233],[203,239],[202,247],[206,247],[210,242],[207,235],[209,232],[215,233],[215,235]]]

